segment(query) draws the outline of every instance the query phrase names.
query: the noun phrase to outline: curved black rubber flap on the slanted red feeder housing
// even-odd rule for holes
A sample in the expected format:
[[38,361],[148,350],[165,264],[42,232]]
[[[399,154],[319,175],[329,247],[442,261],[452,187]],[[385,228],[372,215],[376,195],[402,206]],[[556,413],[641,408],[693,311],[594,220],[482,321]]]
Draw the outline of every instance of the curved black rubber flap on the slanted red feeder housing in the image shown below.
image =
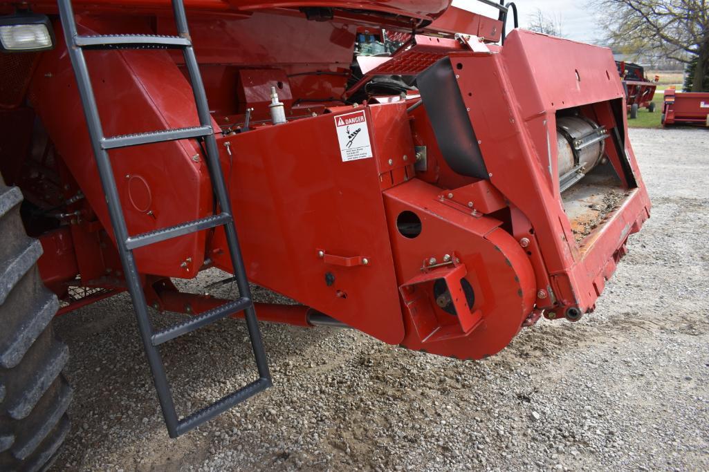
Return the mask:
[[425,69],[416,82],[445,162],[458,174],[488,179],[450,60],[444,57]]

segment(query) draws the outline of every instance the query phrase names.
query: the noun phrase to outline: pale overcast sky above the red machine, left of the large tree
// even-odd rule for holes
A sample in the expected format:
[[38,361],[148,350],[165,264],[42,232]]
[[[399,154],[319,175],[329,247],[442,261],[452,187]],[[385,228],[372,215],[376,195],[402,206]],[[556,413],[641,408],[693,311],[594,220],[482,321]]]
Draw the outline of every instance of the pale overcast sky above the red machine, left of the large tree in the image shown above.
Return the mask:
[[[603,31],[598,28],[598,18],[593,9],[586,6],[585,0],[517,0],[520,13],[520,26],[525,28],[530,21],[530,15],[540,9],[548,18],[560,18],[564,37],[593,43],[603,37]],[[496,17],[497,13],[489,6],[475,0],[453,0],[454,6],[461,9],[483,13],[485,16]],[[508,28],[512,28],[510,18]]]

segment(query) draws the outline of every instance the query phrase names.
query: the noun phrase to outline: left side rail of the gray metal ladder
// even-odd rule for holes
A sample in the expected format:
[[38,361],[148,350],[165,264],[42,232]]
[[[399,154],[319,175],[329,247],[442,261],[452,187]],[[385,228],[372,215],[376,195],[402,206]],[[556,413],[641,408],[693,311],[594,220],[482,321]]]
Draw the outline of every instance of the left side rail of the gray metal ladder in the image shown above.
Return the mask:
[[135,266],[133,251],[125,247],[125,240],[128,239],[128,228],[123,219],[123,209],[121,208],[121,200],[118,196],[116,181],[113,179],[111,161],[106,150],[101,147],[101,139],[104,137],[104,131],[101,128],[101,119],[99,118],[96,99],[94,99],[94,91],[91,87],[89,71],[86,69],[84,52],[75,44],[74,38],[77,36],[77,26],[74,21],[74,12],[72,11],[70,0],[58,0],[58,4],[62,25],[64,25],[67,50],[72,65],[74,66],[74,75],[77,79],[79,96],[81,97],[84,115],[86,116],[86,126],[89,129],[89,137],[91,137],[91,147],[96,157],[96,167],[99,169],[101,186],[104,189],[104,193],[106,193],[108,215],[111,217],[111,225],[113,225],[113,233],[116,237],[116,246],[118,246],[118,254],[121,257],[121,264],[123,265],[123,273],[125,274],[125,280],[128,282],[130,298],[133,300],[135,317],[138,319],[140,337],[143,339],[145,354],[147,355],[147,361],[152,371],[152,380],[153,383],[155,383],[155,390],[157,390],[157,397],[160,401],[160,408],[165,420],[165,425],[167,425],[167,431],[170,437],[176,437],[177,412],[175,412],[172,394],[169,390],[162,359],[160,359],[160,353],[157,352],[157,349],[155,349],[155,347],[152,346],[152,342],[150,342],[152,327],[150,326],[150,319],[147,317],[145,294],[143,293],[143,287],[140,286],[140,276],[138,274],[138,268]]

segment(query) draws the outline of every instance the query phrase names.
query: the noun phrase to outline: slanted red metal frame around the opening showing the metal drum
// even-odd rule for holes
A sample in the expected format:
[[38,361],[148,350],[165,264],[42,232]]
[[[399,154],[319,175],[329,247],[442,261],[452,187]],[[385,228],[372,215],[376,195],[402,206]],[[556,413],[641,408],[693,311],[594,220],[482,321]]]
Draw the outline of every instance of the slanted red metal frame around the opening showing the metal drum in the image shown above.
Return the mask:
[[[593,309],[598,297],[593,281],[618,256],[632,228],[647,219],[649,198],[623,113],[619,125],[625,155],[608,153],[625,162],[637,189],[609,217],[598,240],[579,251],[560,201],[557,147],[552,144],[557,111],[587,103],[603,103],[601,108],[607,110],[610,101],[622,103],[623,88],[610,50],[514,30],[501,54],[457,53],[451,62],[491,184],[530,220],[559,301],[584,312]],[[604,119],[612,116],[608,111]]]

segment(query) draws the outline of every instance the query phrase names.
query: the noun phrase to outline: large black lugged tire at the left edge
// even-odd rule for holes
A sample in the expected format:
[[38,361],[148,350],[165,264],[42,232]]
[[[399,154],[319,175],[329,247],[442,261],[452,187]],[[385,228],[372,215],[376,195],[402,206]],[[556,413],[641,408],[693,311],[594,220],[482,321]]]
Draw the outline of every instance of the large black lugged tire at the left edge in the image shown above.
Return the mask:
[[69,432],[67,345],[52,331],[59,302],[40,278],[38,240],[20,218],[22,193],[0,176],[0,471],[48,469]]

